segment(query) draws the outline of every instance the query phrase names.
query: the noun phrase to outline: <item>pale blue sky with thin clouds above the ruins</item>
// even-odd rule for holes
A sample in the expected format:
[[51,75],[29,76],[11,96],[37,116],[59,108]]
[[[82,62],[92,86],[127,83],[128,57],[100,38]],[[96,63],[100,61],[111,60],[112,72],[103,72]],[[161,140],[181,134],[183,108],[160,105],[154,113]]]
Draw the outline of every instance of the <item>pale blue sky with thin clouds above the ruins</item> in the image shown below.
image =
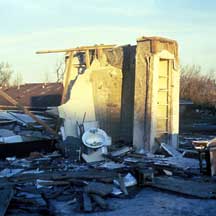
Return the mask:
[[25,82],[55,80],[62,55],[37,50],[135,44],[144,35],[175,39],[181,64],[216,70],[213,0],[0,0],[0,8],[0,62]]

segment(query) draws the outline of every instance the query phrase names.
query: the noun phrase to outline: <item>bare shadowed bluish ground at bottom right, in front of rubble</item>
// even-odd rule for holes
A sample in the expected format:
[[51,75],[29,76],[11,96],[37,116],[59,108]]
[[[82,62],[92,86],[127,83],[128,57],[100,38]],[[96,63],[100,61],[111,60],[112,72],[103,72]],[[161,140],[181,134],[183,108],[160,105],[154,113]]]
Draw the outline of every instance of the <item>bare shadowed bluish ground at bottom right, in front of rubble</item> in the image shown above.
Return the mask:
[[[159,191],[152,188],[142,189],[132,199],[109,199],[113,211],[97,213],[73,213],[81,216],[215,216],[216,200],[185,197],[179,194]],[[57,206],[56,206],[57,207]],[[71,206],[72,207],[72,206]],[[66,209],[65,209],[66,210]],[[59,212],[59,216],[69,216]]]

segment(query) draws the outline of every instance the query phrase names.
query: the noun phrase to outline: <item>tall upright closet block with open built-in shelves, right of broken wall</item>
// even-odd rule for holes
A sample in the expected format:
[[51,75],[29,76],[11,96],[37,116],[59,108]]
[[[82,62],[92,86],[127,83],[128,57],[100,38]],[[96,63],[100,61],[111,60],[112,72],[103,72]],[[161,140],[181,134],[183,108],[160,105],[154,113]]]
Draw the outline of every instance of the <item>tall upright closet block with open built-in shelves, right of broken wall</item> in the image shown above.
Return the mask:
[[179,70],[175,41],[137,41],[133,145],[155,152],[159,143],[178,144]]

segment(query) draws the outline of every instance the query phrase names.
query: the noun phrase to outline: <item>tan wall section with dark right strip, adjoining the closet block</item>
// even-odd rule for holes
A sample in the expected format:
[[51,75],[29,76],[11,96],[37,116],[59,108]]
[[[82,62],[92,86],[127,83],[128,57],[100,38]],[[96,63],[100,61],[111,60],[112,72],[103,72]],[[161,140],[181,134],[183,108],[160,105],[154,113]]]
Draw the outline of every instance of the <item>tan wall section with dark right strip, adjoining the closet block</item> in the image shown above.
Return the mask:
[[93,69],[96,119],[114,140],[132,142],[135,47],[104,50]]

